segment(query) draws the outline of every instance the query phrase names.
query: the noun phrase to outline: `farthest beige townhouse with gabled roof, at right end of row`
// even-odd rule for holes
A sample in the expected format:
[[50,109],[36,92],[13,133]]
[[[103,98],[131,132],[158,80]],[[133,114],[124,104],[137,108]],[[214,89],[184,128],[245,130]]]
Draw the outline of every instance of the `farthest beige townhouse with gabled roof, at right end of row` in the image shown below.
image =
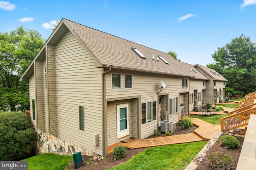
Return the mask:
[[206,90],[203,91],[203,100],[210,99],[216,103],[225,102],[225,87],[228,80],[211,68],[199,64],[195,64],[194,67],[209,79],[206,81]]

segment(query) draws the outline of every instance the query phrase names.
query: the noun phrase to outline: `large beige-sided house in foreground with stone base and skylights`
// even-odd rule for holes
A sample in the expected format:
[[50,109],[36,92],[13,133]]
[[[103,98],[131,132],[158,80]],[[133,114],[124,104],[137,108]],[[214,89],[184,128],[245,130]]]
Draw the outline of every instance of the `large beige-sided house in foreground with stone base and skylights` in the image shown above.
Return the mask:
[[164,119],[177,123],[181,103],[188,113],[213,90],[201,67],[62,19],[20,78],[29,81],[38,153],[107,156],[110,145],[144,139]]

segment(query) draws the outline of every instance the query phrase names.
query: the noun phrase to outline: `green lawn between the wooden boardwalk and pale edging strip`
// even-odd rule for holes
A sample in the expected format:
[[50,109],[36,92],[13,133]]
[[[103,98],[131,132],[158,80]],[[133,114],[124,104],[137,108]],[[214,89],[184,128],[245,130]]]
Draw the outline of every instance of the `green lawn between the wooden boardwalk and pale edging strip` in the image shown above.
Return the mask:
[[184,170],[206,141],[151,147],[111,170]]

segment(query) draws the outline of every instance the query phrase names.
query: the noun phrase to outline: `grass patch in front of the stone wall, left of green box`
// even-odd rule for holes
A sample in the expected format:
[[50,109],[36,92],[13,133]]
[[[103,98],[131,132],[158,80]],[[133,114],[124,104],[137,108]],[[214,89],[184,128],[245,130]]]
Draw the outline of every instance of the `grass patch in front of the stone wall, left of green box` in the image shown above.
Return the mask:
[[28,170],[66,170],[73,156],[44,153],[24,159],[28,161]]

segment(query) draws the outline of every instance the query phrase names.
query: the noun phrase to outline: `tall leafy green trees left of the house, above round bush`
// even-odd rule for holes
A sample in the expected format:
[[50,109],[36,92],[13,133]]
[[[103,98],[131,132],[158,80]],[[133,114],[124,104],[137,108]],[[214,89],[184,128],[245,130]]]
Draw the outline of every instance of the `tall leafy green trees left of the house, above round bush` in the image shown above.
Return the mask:
[[19,79],[43,45],[38,31],[23,26],[0,33],[0,110],[29,108],[28,82]]

